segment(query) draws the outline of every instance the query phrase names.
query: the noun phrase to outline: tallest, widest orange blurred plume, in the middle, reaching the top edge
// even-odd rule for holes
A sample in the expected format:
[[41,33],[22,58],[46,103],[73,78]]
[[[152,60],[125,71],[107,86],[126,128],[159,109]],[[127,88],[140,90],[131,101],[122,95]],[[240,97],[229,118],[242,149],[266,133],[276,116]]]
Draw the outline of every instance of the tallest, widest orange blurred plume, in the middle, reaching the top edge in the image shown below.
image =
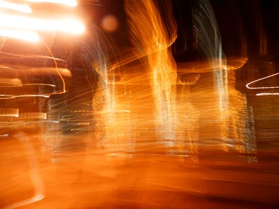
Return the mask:
[[136,50],[147,52],[144,61],[150,72],[155,102],[156,132],[163,136],[163,144],[172,146],[176,121],[176,63],[171,54],[176,39],[176,24],[170,1],[160,9],[153,1],[125,1],[130,26],[130,40]]

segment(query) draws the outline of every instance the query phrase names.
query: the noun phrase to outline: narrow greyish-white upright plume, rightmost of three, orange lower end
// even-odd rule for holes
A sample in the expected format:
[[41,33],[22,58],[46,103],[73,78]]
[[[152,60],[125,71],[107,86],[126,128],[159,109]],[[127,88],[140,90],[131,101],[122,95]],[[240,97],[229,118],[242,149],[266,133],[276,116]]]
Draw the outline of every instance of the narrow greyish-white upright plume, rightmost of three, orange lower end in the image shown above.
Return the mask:
[[227,64],[222,50],[218,24],[207,0],[195,1],[194,24],[197,33],[197,45],[209,59],[213,68],[213,78],[220,106],[221,118],[227,115],[229,96],[227,91]]

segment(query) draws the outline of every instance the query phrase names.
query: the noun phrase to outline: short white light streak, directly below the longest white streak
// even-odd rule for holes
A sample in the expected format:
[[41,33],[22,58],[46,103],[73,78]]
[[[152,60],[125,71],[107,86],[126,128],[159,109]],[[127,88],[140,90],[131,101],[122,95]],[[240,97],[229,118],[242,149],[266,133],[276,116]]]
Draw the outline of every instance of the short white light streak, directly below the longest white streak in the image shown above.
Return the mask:
[[[3,20],[0,20],[0,22],[1,21]],[[15,29],[0,29],[0,36],[17,38],[17,39],[28,40],[33,42],[40,40],[40,37],[35,32],[15,30]]]

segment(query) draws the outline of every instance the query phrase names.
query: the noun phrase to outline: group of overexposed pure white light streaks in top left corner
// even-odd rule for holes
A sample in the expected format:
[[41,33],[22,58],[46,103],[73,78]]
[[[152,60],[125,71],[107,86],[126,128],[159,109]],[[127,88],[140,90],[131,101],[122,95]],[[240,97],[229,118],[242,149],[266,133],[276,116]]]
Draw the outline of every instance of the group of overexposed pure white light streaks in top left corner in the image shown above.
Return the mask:
[[[62,31],[65,33],[80,34],[84,32],[84,25],[77,17],[48,18],[34,17],[31,6],[27,3],[54,3],[65,6],[77,6],[75,0],[70,1],[36,1],[26,0],[24,3],[10,3],[0,1],[0,36],[17,38],[36,42],[40,40],[38,31]],[[6,10],[3,10],[6,9]],[[10,13],[9,10],[17,11],[20,14]],[[22,15],[24,13],[25,15]]]

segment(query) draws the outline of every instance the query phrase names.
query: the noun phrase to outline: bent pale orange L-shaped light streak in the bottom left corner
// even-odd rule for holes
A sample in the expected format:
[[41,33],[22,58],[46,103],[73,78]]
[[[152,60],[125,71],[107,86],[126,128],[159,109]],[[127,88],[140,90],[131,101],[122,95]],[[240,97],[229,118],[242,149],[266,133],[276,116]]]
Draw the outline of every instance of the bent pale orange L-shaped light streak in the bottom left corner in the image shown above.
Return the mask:
[[13,203],[10,206],[6,206],[5,207],[6,209],[18,208],[20,206],[27,206],[31,203],[35,203],[36,201],[40,201],[45,198],[43,183],[40,180],[40,176],[37,171],[38,166],[35,157],[33,156],[33,148],[31,147],[27,135],[24,134],[24,132],[17,132],[15,133],[14,137],[15,139],[19,140],[24,145],[24,148],[27,150],[27,155],[29,157],[29,162],[31,165],[31,177],[33,180],[33,184],[36,187],[36,192],[32,198],[25,199],[17,203]]

